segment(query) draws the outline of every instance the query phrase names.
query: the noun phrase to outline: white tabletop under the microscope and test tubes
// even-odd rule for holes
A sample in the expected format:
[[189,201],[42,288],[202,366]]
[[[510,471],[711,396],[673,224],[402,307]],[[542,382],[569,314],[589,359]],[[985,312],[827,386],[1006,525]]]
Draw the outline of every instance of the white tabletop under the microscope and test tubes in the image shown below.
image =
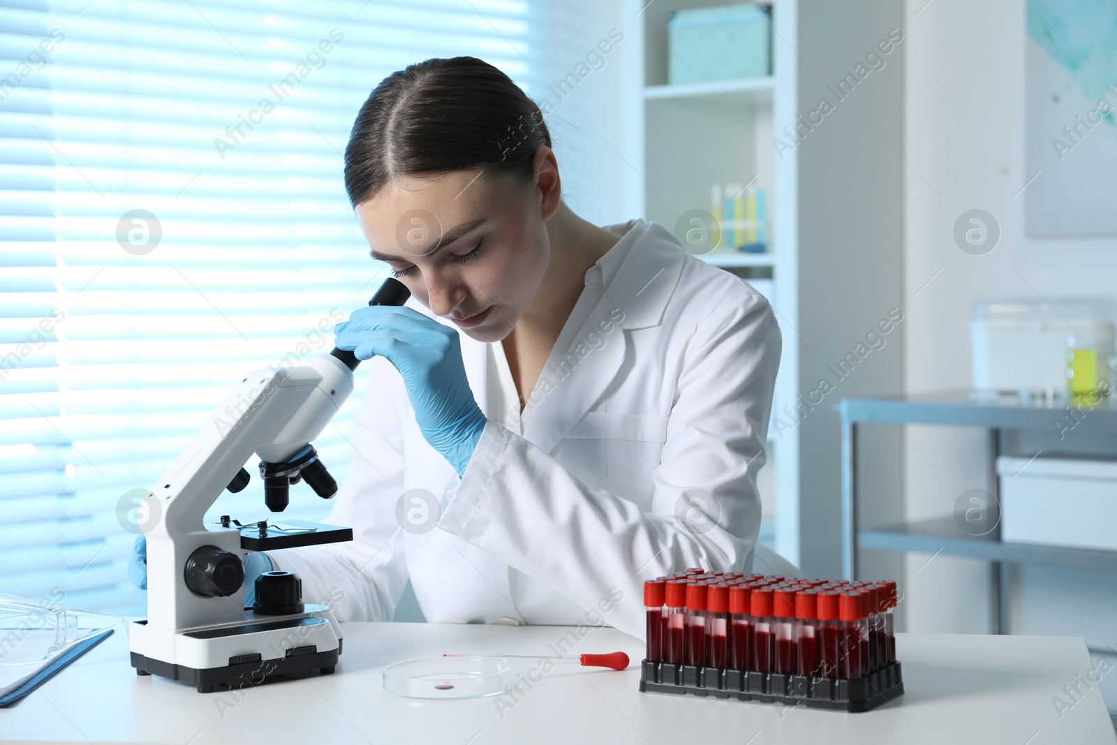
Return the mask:
[[[38,743],[1115,743],[1094,686],[1059,717],[1052,697],[1090,670],[1077,637],[900,634],[907,691],[847,714],[775,704],[641,694],[642,644],[594,629],[574,653],[623,650],[623,672],[558,665],[518,703],[420,701],[381,688],[381,666],[443,652],[546,653],[565,627],[344,623],[337,671],[232,694],[137,677],[120,631],[12,707],[0,742]],[[514,665],[527,674],[533,660]],[[1117,675],[1111,671],[1109,675]],[[1085,690],[1085,689],[1083,689]],[[505,704],[512,699],[504,699]],[[220,703],[220,704],[219,704]]]

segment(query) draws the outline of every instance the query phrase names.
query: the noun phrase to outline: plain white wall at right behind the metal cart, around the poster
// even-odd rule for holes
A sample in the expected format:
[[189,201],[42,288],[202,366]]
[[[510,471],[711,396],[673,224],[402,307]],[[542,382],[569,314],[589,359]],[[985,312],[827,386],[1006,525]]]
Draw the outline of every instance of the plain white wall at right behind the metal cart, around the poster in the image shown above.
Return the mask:
[[[1024,195],[1014,195],[1032,175],[1024,172],[1023,160],[1027,7],[1024,0],[905,3],[904,154],[910,166],[904,181],[908,308],[904,378],[908,394],[968,388],[968,322],[978,299],[1117,295],[1117,239],[1023,235]],[[997,247],[985,256],[964,254],[953,239],[955,220],[974,208],[991,212],[1002,231]],[[909,519],[949,515],[962,491],[985,486],[982,433],[927,427],[907,430],[905,508]],[[907,561],[908,629],[986,632],[986,565],[938,556],[924,566],[928,558],[913,554]],[[1078,581],[1073,577],[1040,571],[1046,579],[1029,569],[1022,576],[1018,572],[1016,580],[1023,580],[1037,603],[1059,611],[1053,622],[1066,624],[1063,633],[1081,633],[1071,604],[1086,609],[1088,615],[1096,614],[1097,608],[1076,602]],[[1025,630],[1025,619],[1019,613],[1013,622],[1013,631]],[[1057,632],[1034,625],[1027,630]]]

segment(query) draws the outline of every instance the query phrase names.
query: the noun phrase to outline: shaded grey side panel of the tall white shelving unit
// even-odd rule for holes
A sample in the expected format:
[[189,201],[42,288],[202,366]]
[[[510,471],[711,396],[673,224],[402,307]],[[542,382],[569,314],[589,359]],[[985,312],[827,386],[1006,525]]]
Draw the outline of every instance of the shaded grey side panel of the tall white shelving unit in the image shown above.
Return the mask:
[[[901,293],[904,164],[892,150],[903,139],[907,41],[892,47],[882,58],[884,67],[867,73],[844,98],[839,101],[831,90],[865,64],[867,54],[880,57],[877,45],[901,22],[898,0],[800,0],[796,48],[789,51],[785,44],[777,45],[784,58],[798,65],[798,114],[811,116],[822,98],[833,106],[794,149],[799,315],[798,328],[783,329],[784,354],[792,344],[799,350],[796,393],[809,400],[812,391],[825,390],[820,386],[823,379],[833,386],[796,429],[799,565],[806,576],[837,577],[842,572],[841,424],[833,405],[843,398],[903,391],[906,319],[889,326],[887,335],[878,331],[884,346],[868,353],[846,378],[839,379],[832,366],[859,343],[863,346],[868,332],[892,308],[907,313]],[[783,132],[779,123],[775,128]],[[818,403],[819,397],[813,398]],[[858,513],[866,527],[900,517],[900,449],[895,436],[881,430],[862,428],[858,437]],[[894,557],[868,552],[861,557],[859,576],[896,576]]]

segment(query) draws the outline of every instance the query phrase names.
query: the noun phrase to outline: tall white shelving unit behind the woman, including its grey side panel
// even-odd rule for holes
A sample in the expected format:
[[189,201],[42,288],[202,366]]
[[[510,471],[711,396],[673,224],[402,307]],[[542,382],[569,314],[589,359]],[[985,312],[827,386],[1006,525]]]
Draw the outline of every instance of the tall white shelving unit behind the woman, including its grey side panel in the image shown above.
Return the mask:
[[[642,208],[646,219],[674,230],[688,210],[710,209],[714,183],[754,183],[765,190],[767,252],[716,250],[701,258],[745,279],[766,280],[757,285],[766,288],[762,292],[772,300],[783,332],[773,418],[783,414],[787,421],[785,412],[800,405],[800,394],[812,390],[828,363],[840,359],[836,350],[856,343],[863,328],[887,312],[878,305],[898,303],[901,164],[894,151],[879,152],[882,143],[858,135],[858,146],[869,155],[865,172],[856,172],[848,143],[840,141],[862,130],[877,136],[866,126],[875,123],[878,134],[899,142],[896,69],[889,71],[895,77],[885,80],[878,75],[876,88],[858,103],[843,103],[839,113],[844,121],[828,124],[829,131],[812,134],[812,141],[777,156],[774,139],[787,140],[786,133],[800,126],[800,113],[815,108],[827,85],[871,50],[876,37],[899,23],[900,2],[865,0],[852,8],[822,0],[776,0],[772,75],[671,85],[668,15],[734,1],[626,3],[626,18],[633,19],[624,29],[626,44],[632,42],[627,50],[630,82],[641,94],[626,96],[626,105],[634,111],[629,125],[634,144],[628,152],[639,172],[629,181],[631,203]],[[836,209],[856,199],[876,200],[879,222],[834,218]],[[834,220],[829,226],[832,240],[823,238],[820,219]],[[842,252],[858,262],[867,260],[868,268],[841,266]],[[770,427],[768,464],[758,475],[761,539],[809,574],[832,566],[840,571],[840,432],[832,404],[866,389],[898,393],[898,360],[878,367],[842,382],[848,390],[819,407],[825,413],[812,412],[790,430],[774,421]]]

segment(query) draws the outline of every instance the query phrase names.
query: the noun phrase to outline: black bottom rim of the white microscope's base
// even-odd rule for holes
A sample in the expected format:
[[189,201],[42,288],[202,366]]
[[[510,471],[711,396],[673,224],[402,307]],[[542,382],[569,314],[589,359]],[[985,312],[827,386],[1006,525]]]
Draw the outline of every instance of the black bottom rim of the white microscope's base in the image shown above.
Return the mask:
[[255,660],[200,670],[183,665],[153,660],[136,652],[131,655],[132,667],[136,669],[136,675],[156,675],[171,680],[182,680],[197,686],[199,694],[211,694],[213,686],[228,686],[230,689],[250,688],[270,678],[305,678],[314,670],[318,670],[319,675],[333,675],[341,651],[341,642],[338,641],[337,649],[328,652],[280,657],[274,660]]

